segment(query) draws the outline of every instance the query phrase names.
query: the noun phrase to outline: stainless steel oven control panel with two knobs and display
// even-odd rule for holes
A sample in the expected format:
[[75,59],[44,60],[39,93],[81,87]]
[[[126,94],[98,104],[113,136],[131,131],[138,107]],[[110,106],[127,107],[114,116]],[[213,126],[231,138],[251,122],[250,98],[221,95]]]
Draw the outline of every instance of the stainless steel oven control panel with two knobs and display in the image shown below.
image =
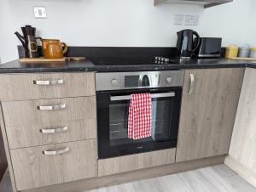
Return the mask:
[[184,71],[96,73],[96,91],[182,87]]

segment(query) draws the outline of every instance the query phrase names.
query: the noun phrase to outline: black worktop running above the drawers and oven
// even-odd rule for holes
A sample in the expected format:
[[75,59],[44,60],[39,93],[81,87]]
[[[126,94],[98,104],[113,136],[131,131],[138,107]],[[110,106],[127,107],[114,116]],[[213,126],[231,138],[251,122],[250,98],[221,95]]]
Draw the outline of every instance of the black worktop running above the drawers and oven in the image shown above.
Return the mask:
[[211,69],[211,68],[256,68],[256,61],[234,59],[173,59],[172,64],[154,65],[94,65],[89,59],[84,61],[68,61],[63,63],[20,63],[14,60],[0,65],[0,73],[32,73],[32,72],[121,72],[121,71],[164,71],[178,69]]

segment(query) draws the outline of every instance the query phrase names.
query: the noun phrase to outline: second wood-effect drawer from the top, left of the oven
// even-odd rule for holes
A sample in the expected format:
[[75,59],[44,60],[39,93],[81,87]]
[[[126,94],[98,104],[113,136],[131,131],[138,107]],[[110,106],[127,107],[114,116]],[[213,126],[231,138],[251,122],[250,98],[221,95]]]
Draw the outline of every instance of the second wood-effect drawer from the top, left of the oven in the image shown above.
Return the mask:
[[3,102],[2,107],[6,127],[96,119],[95,96],[11,101]]

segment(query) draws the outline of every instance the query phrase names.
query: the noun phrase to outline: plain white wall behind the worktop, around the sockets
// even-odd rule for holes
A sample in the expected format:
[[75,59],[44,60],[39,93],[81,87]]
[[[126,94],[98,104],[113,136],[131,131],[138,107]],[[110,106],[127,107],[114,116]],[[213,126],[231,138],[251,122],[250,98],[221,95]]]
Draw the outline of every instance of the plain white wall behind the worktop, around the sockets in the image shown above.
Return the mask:
[[[48,19],[36,20],[33,6],[45,6]],[[38,36],[60,38],[71,46],[171,47],[176,31],[192,28],[205,37],[224,37],[224,45],[253,42],[250,25],[255,0],[234,0],[216,8],[161,4],[153,0],[0,0],[0,57],[16,59],[21,25],[34,25]],[[200,25],[173,25],[174,14],[198,14]],[[255,23],[255,22],[254,22]],[[254,33],[255,34],[255,33]]]

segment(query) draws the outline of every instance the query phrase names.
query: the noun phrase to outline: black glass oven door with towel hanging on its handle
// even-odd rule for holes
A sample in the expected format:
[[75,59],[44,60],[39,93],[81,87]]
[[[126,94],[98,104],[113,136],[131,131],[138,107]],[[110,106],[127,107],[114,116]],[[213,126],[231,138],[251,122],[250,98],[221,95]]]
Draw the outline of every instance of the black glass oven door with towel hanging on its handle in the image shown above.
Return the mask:
[[[151,93],[151,137],[128,138],[131,93]],[[176,147],[182,88],[96,93],[99,159]]]

